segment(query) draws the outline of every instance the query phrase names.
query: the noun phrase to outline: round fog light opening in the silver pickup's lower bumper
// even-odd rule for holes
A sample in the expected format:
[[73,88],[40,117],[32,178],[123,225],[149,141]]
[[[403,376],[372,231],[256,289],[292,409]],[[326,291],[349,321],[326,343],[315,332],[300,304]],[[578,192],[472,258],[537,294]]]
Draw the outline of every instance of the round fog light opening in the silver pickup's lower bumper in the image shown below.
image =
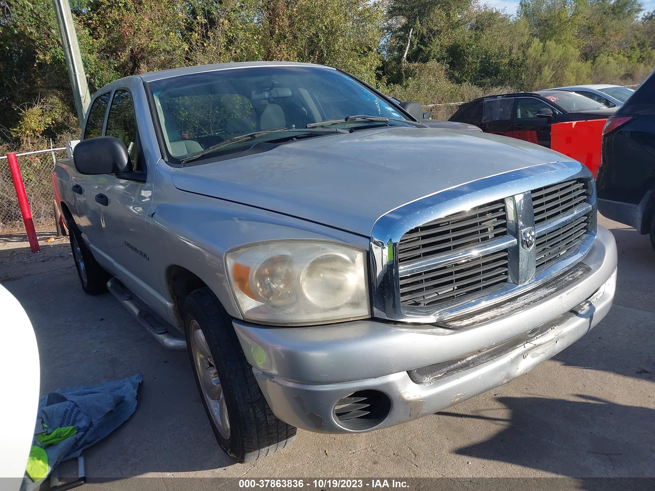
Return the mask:
[[334,419],[346,429],[364,431],[372,429],[386,419],[391,400],[377,390],[358,390],[342,397],[334,406]]

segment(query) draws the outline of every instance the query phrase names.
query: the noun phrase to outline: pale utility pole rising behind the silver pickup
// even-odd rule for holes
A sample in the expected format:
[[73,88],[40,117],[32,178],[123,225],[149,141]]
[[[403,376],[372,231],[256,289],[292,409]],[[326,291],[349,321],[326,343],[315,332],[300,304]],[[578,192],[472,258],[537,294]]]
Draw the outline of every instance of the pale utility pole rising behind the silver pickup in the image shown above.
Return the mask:
[[77,109],[77,118],[80,121],[81,128],[86,109],[88,109],[91,102],[91,95],[86,84],[86,73],[84,73],[80,46],[77,44],[77,33],[75,33],[75,24],[73,24],[71,5],[68,0],[52,0],[52,6],[59,27],[64,60],[66,60],[68,78],[73,88],[73,98],[75,98],[75,108]]

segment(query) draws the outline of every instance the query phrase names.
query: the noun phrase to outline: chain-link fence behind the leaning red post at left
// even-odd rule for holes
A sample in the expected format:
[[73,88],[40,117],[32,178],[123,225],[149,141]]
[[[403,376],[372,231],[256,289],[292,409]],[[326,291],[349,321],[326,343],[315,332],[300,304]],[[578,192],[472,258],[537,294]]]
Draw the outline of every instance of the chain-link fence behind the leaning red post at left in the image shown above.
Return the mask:
[[[36,227],[54,225],[54,190],[52,170],[56,158],[64,158],[65,149],[46,149],[24,154],[16,153],[23,175],[29,208]],[[7,156],[0,156],[0,234],[23,228],[23,218],[16,198],[14,181]]]

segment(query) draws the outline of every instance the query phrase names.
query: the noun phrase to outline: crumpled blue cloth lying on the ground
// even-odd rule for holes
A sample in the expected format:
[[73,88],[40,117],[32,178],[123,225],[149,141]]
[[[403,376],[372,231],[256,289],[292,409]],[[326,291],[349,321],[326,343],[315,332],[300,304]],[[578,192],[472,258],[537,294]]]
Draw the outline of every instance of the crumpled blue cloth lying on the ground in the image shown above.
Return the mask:
[[[100,441],[132,416],[141,380],[141,374],[136,374],[94,386],[64,387],[41,397],[37,419],[43,418],[43,424],[51,430],[77,427],[76,435],[45,448],[48,474],[61,462],[77,458],[84,448]],[[32,482],[26,475],[20,489],[33,491],[41,482]]]

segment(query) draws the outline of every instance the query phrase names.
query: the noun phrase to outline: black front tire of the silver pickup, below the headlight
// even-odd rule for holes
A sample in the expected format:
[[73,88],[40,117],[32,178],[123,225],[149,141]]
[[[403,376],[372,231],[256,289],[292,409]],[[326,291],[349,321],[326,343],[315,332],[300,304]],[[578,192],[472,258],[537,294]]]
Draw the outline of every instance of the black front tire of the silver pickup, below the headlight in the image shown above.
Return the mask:
[[[263,393],[259,390],[250,363],[246,361],[232,326],[233,318],[227,314],[214,293],[208,287],[189,293],[184,302],[183,313],[193,376],[221,448],[236,462],[253,462],[291,443],[295,437],[295,427],[278,420],[273,414]],[[227,409],[229,420],[227,437],[221,434],[221,429],[214,420],[214,410],[221,412],[220,403],[215,404],[215,401],[212,401],[215,405],[213,409],[210,408],[208,397],[200,382],[201,375],[198,371],[201,368],[198,364],[201,361],[197,358],[198,348],[193,348],[198,342],[194,339],[192,346],[191,339],[192,331],[198,330],[202,331],[206,346],[212,355],[212,359],[207,360],[207,370],[215,369],[221,386],[223,399],[220,403],[225,405],[222,409]],[[212,378],[214,384],[217,383],[215,380]],[[223,433],[226,433],[225,424],[221,423],[221,425],[223,425]]]

